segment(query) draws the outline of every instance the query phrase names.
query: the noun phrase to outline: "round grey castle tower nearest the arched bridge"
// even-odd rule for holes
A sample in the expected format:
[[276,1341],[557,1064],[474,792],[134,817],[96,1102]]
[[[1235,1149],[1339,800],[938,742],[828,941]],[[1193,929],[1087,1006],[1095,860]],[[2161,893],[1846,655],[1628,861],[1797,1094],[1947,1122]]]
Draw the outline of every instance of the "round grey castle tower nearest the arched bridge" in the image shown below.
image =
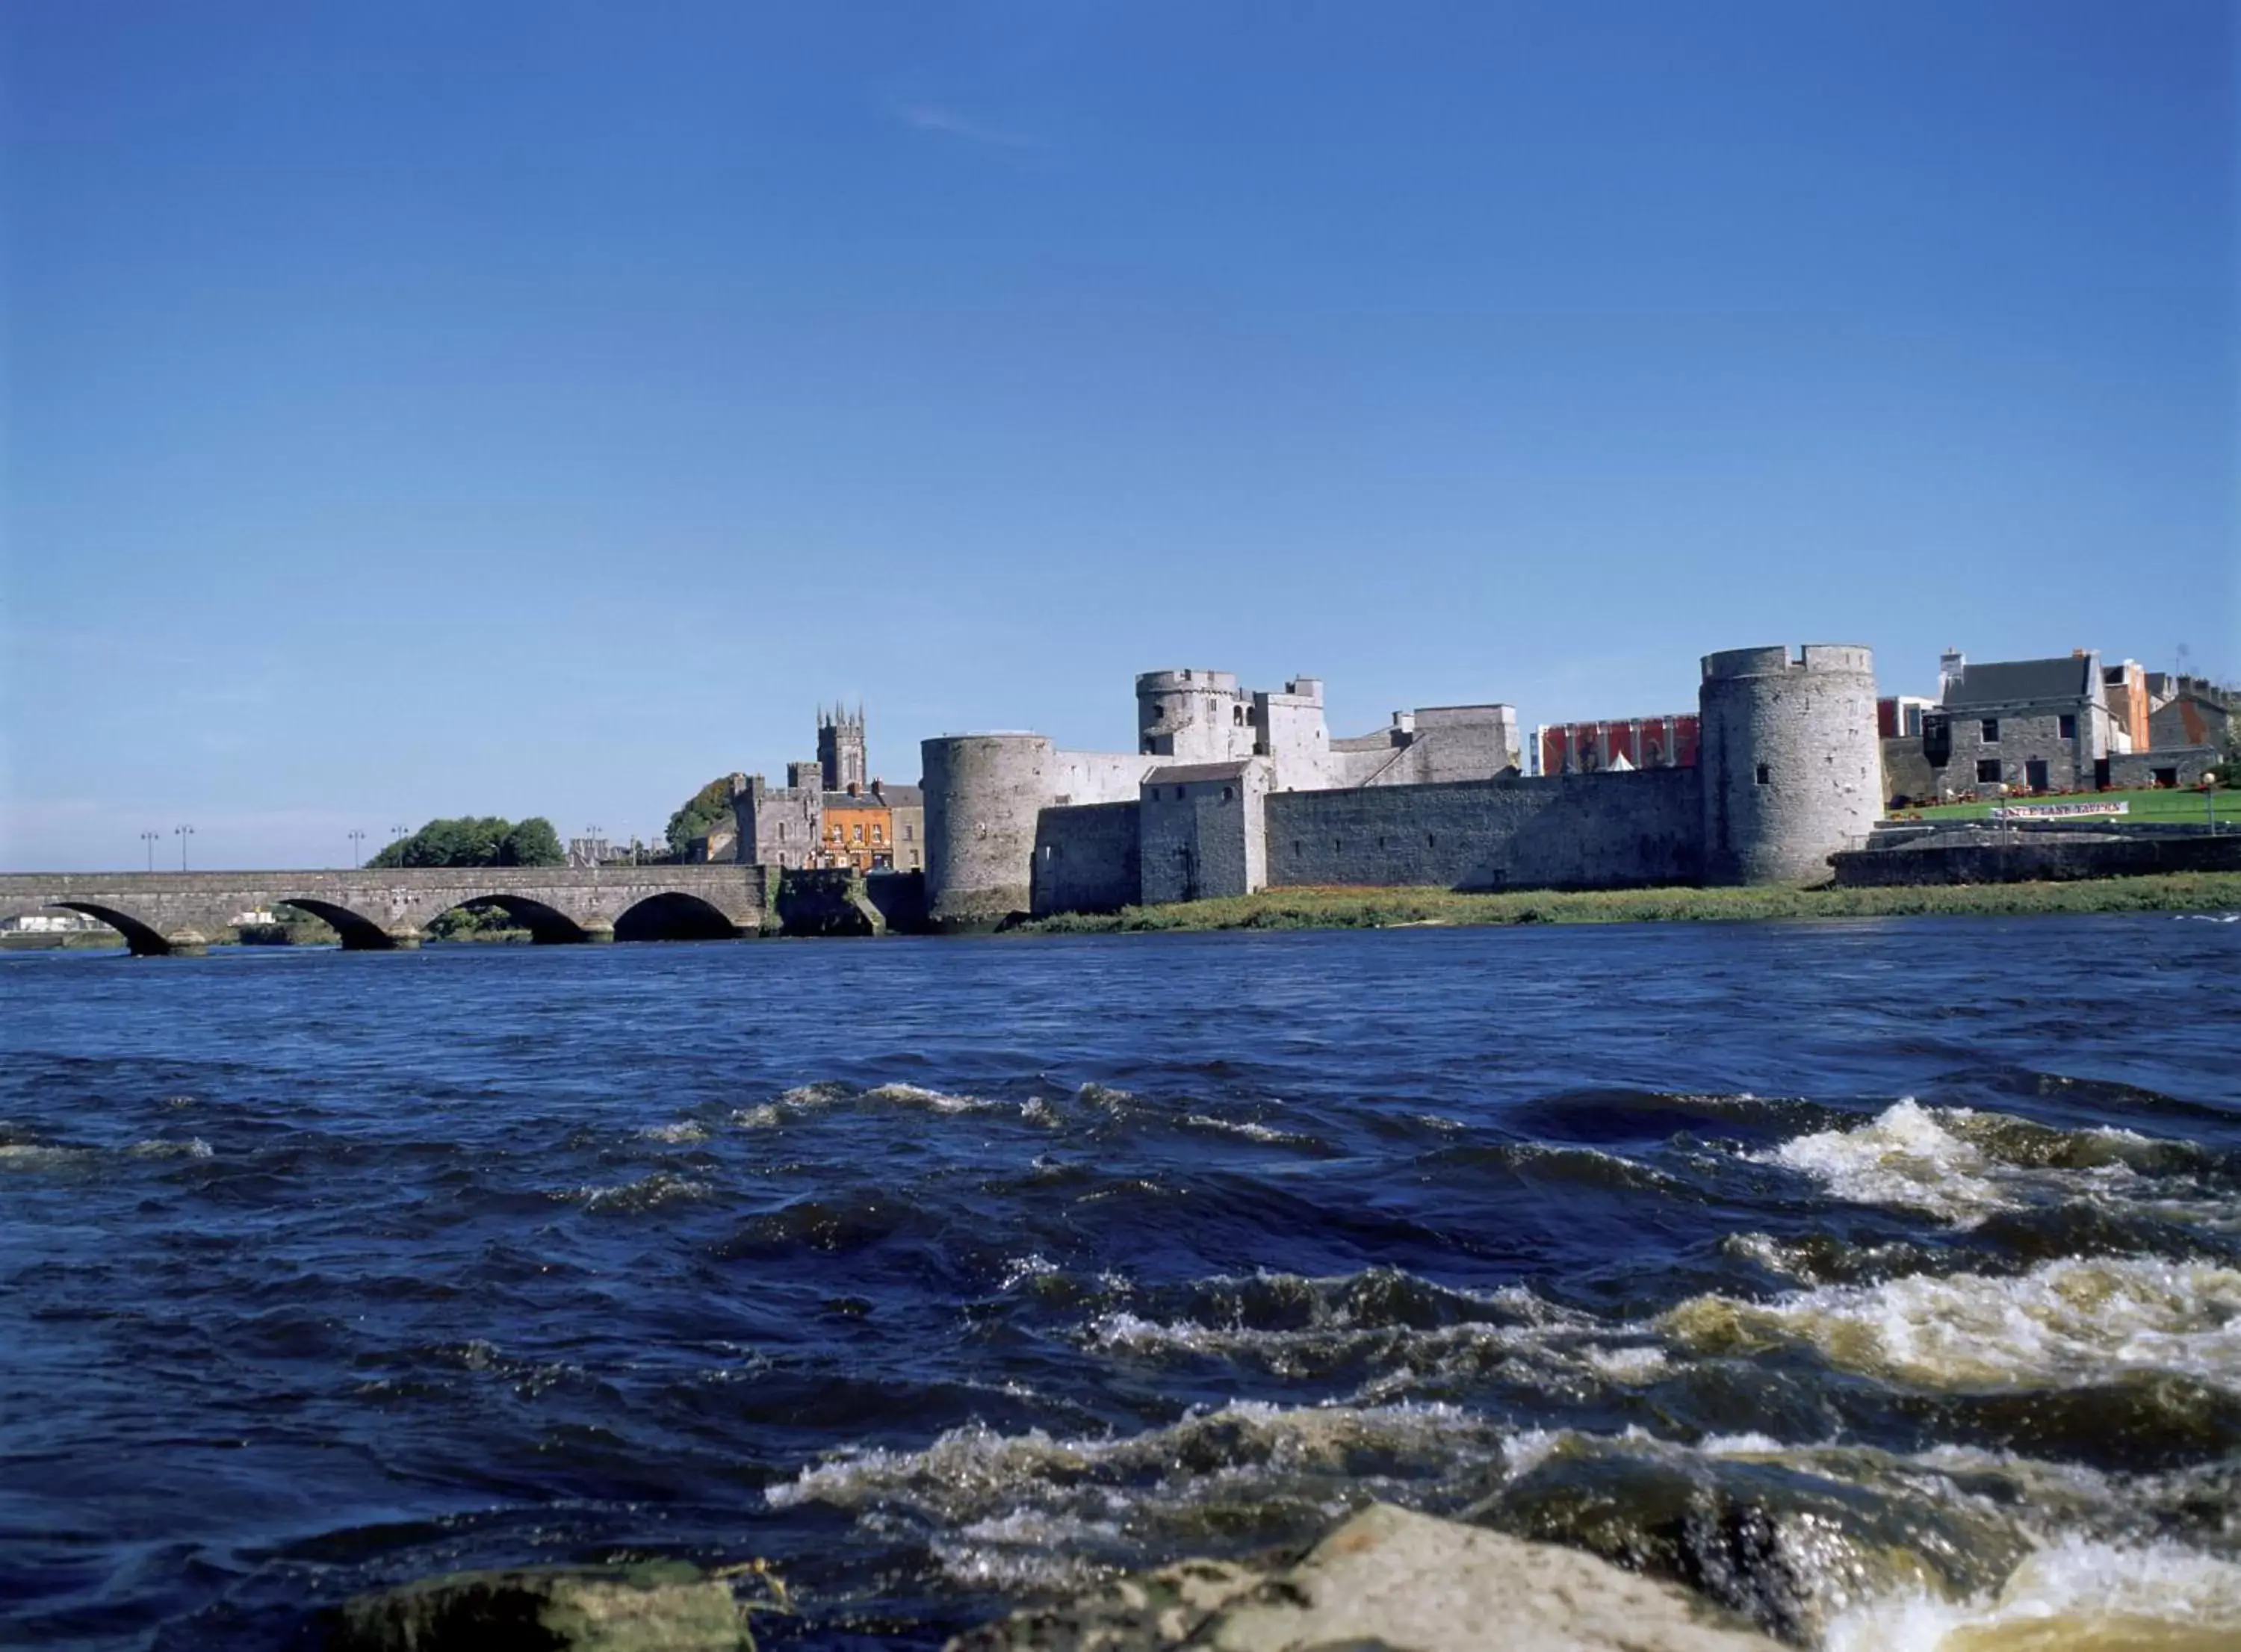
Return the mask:
[[926,762],[926,915],[937,928],[1029,910],[1035,820],[1051,800],[1049,735],[943,735]]

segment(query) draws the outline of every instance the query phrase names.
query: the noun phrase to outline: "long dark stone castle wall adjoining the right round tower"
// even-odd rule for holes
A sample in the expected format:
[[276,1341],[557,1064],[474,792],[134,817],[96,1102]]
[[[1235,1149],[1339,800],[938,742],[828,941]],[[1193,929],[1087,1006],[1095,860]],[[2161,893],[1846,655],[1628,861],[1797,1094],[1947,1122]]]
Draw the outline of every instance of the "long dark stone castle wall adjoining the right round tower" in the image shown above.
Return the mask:
[[1627,888],[1701,872],[1694,769],[1277,791],[1264,818],[1268,888]]

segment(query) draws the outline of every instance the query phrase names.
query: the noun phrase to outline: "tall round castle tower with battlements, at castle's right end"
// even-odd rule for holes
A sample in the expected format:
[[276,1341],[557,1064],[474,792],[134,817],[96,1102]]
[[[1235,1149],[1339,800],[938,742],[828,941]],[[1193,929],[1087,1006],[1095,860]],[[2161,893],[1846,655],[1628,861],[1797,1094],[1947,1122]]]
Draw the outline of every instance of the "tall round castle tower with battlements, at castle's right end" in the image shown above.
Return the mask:
[[1876,657],[1856,643],[1703,657],[1705,883],[1826,883],[1882,816]]

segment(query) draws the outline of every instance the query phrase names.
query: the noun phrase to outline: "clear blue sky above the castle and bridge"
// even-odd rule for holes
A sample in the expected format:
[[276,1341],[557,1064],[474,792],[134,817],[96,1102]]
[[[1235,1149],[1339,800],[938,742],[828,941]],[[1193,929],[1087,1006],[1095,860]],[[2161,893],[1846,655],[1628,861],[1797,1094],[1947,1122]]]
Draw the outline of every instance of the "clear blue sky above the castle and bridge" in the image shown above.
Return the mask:
[[[0,865],[1132,742],[2241,675],[2223,0],[0,9]],[[166,854],[170,841],[166,838]]]

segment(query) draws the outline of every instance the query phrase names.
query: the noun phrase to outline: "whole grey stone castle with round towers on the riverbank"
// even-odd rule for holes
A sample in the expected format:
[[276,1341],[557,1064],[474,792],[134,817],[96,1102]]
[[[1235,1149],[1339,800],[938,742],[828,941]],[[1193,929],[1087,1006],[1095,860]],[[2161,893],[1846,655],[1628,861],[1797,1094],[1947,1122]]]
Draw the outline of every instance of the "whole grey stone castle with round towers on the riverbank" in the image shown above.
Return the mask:
[[1315,677],[1246,690],[1219,670],[1145,672],[1136,751],[923,742],[928,915],[966,928],[1315,883],[1820,883],[1867,841],[1882,814],[1871,650],[1705,655],[1696,722],[1687,767],[1524,776],[1506,704],[1333,740]]

